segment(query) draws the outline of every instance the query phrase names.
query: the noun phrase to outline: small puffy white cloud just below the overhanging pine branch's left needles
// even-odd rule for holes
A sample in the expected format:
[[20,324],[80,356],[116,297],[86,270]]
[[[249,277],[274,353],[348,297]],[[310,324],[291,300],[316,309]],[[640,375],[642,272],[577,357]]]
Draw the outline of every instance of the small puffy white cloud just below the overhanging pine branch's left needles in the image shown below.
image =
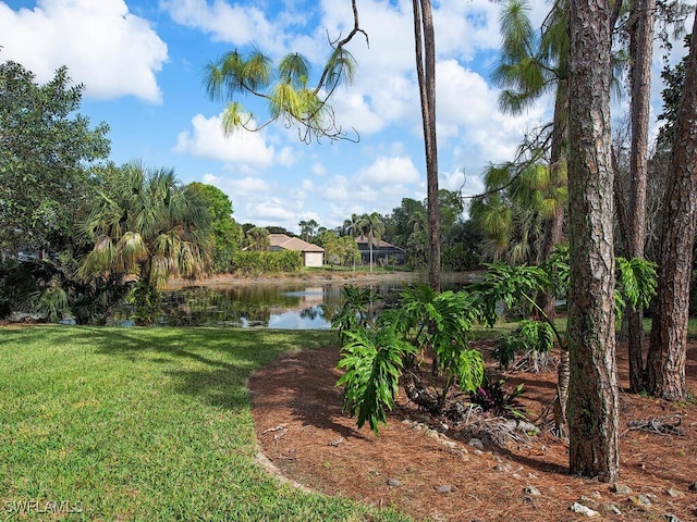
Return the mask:
[[[222,132],[221,116],[205,117],[196,114],[192,119],[193,132],[179,134],[176,152],[220,160],[231,163],[243,163],[253,166],[269,166],[273,163],[273,147],[268,147],[264,134],[235,132],[225,136]],[[288,158],[288,152],[283,152]]]

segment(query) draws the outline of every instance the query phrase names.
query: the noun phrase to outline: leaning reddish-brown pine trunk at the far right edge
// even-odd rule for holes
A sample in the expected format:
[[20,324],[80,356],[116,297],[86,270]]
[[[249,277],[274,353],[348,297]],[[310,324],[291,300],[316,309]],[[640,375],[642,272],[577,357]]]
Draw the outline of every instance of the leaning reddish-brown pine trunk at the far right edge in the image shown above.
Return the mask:
[[675,124],[659,250],[658,295],[648,353],[648,390],[668,400],[687,396],[685,357],[689,278],[697,219],[697,14]]

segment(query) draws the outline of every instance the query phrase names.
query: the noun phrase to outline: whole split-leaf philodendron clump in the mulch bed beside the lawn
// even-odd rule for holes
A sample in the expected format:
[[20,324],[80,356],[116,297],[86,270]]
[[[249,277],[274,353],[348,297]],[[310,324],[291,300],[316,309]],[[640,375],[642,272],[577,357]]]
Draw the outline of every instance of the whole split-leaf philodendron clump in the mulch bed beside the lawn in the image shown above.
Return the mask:
[[377,431],[392,408],[400,376],[419,371],[427,351],[442,372],[438,383],[421,390],[430,403],[442,409],[453,385],[472,391],[480,384],[485,364],[481,353],[468,347],[476,310],[466,293],[436,294],[428,285],[406,288],[375,328],[359,321],[367,294],[354,288],[347,297],[353,303],[334,316],[332,327],[342,328],[341,337],[350,346],[344,346],[339,366],[351,372],[338,384],[345,387],[351,413],[358,411],[358,425],[367,420]]

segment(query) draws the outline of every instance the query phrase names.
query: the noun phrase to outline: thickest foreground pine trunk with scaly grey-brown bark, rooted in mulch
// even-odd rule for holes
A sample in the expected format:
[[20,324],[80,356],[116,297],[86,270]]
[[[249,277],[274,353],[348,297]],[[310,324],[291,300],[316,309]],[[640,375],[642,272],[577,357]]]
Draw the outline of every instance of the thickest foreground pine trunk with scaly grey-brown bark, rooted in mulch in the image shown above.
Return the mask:
[[570,17],[570,469],[620,473],[614,338],[611,7],[571,2]]

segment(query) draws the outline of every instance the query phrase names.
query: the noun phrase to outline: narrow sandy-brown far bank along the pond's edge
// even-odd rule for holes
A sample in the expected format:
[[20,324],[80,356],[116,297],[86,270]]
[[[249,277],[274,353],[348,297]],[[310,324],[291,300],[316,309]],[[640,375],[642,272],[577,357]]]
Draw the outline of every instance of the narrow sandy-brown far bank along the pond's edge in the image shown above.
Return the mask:
[[[457,272],[443,274],[443,282],[467,283],[476,277],[477,272]],[[168,290],[205,286],[208,288],[230,288],[245,285],[278,285],[285,283],[317,284],[370,284],[370,283],[426,283],[427,274],[423,272],[298,272],[283,274],[266,274],[256,277],[237,274],[213,274],[205,279],[170,279]]]

